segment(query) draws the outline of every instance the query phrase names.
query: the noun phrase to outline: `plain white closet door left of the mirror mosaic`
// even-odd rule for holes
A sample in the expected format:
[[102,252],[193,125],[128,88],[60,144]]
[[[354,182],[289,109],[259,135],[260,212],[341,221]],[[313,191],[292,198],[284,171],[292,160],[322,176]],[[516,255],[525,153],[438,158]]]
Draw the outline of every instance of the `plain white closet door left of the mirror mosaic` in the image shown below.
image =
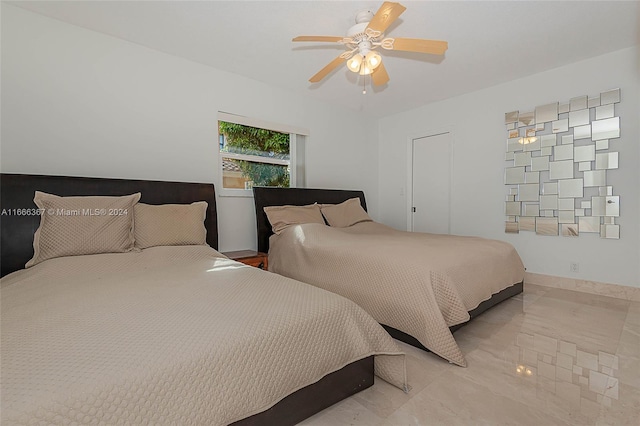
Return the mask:
[[433,234],[451,232],[451,133],[412,141],[411,230]]

